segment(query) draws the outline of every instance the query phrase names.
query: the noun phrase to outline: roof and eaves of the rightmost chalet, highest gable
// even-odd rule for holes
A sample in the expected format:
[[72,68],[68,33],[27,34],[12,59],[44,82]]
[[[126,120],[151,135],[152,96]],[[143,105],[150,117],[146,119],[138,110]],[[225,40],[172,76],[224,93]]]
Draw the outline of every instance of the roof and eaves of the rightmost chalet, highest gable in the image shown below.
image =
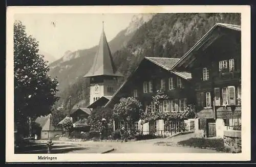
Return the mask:
[[[183,57],[172,67],[172,70],[177,69],[178,67],[182,66],[183,64],[191,64],[191,61],[194,61],[195,57],[193,52],[198,50],[203,45],[206,45],[207,43],[211,43],[210,37],[212,34],[218,30],[218,28],[223,28],[227,30],[234,30],[237,32],[241,32],[241,25],[233,25],[233,24],[225,24],[225,23],[216,23],[214,26],[211,27],[211,29],[193,46],[191,47],[184,55]],[[213,38],[211,40],[216,40],[217,38]],[[209,41],[209,42],[208,42]],[[187,61],[191,59],[190,61]]]

